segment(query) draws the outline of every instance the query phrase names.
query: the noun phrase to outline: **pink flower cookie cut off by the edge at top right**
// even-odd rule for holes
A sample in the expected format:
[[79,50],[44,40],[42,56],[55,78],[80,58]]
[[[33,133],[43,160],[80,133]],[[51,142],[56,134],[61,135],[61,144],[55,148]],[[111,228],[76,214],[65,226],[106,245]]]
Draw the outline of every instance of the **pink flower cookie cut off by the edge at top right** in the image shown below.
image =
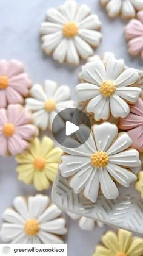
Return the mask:
[[143,10],[138,12],[137,18],[130,20],[125,27],[125,38],[128,40],[128,52],[135,56],[141,55],[143,59]]

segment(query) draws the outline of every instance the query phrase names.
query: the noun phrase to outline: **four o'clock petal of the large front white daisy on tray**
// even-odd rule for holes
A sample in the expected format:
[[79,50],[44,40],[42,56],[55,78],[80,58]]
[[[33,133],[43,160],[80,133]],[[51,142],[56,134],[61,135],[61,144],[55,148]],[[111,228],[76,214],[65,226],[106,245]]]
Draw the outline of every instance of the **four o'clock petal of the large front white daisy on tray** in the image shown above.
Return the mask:
[[135,182],[137,179],[135,174],[121,166],[111,165],[111,163],[108,163],[106,168],[111,176],[124,187],[130,187],[131,182]]

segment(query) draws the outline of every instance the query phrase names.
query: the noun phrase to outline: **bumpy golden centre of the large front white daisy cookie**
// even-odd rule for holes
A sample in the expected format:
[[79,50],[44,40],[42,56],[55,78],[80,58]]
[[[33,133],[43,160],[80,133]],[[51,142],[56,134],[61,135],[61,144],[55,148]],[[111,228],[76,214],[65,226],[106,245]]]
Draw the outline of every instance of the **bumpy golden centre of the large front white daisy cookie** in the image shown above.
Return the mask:
[[108,155],[105,152],[98,151],[91,155],[91,165],[96,167],[105,167],[108,165]]

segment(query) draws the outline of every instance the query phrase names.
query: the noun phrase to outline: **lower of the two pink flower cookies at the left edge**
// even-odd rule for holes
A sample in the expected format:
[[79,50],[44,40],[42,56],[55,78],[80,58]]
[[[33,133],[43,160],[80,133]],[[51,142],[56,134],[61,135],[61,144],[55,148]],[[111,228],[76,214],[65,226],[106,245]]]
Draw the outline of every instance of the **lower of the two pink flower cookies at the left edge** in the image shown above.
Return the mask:
[[29,147],[32,137],[38,135],[32,116],[21,105],[0,108],[0,155],[21,154]]

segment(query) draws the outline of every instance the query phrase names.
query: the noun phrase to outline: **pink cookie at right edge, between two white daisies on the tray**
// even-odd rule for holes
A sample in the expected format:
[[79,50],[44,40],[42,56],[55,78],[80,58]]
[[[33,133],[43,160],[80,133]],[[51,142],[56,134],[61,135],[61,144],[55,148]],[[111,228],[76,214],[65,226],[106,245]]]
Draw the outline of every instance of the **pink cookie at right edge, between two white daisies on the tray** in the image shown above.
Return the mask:
[[131,112],[125,119],[121,119],[119,128],[127,130],[128,135],[133,141],[133,148],[143,151],[143,101],[139,98],[138,102],[131,107]]

